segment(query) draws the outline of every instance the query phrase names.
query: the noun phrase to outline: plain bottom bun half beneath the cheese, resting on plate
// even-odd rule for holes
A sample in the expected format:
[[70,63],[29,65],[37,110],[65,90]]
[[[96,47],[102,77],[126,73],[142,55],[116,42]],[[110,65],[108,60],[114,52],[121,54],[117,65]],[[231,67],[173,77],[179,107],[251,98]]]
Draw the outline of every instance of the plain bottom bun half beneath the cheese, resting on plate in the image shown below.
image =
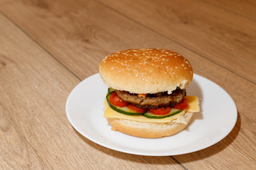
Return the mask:
[[181,132],[191,121],[193,113],[185,113],[186,124],[176,123],[142,123],[132,120],[107,118],[112,125],[112,130],[123,132],[127,135],[146,138],[159,138],[174,135]]

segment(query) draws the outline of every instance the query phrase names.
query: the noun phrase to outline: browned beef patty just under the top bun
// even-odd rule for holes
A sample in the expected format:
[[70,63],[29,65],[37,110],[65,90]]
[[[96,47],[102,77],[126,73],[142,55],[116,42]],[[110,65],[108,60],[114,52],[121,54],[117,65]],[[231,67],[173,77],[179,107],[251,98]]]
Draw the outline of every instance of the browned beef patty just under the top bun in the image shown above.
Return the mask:
[[174,106],[176,103],[181,102],[185,95],[185,90],[177,88],[171,94],[167,92],[160,92],[157,94],[130,94],[128,91],[117,91],[117,96],[122,98],[123,101],[134,104],[139,108],[161,108],[166,106]]

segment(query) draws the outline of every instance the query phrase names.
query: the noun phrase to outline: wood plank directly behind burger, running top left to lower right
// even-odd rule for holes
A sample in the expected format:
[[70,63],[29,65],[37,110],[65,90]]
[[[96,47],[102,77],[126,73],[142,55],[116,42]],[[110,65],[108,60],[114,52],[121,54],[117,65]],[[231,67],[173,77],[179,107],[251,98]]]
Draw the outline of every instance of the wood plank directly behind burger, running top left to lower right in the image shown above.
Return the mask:
[[[185,159],[178,156],[175,158],[186,164],[189,169],[193,169],[193,162],[202,169],[208,169],[209,164],[218,167],[241,162],[244,163],[245,169],[255,166],[251,161],[255,159],[255,154],[250,152],[255,145],[255,141],[252,140],[255,134],[251,128],[255,125],[255,108],[252,108],[255,101],[244,100],[247,98],[246,94],[255,97],[255,84],[94,1],[77,1],[75,4],[71,1],[47,1],[46,4],[48,8],[41,9],[26,1],[25,4],[2,6],[1,9],[80,79],[97,72],[100,60],[115,50],[131,47],[164,47],[180,52],[181,55],[188,57],[197,74],[215,81],[228,91],[238,106],[240,120],[233,132],[219,143],[224,146],[222,149],[219,149],[220,145],[213,145],[208,149],[187,154]],[[23,18],[26,18],[26,21]],[[90,58],[92,56],[93,59]],[[243,145],[240,145],[240,142],[244,142]],[[233,159],[230,159],[230,153],[233,153]],[[206,155],[208,157],[204,157]],[[130,157],[129,154],[127,157]],[[149,158],[146,157],[145,162],[147,159]]]

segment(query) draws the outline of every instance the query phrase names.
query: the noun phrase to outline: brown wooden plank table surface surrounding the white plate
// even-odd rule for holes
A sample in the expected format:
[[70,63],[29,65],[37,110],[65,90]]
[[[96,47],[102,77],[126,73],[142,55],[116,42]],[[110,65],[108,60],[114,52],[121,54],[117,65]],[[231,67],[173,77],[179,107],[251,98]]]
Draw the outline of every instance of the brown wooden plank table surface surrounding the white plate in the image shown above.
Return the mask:
[[[0,169],[256,169],[255,8],[249,0],[0,0]],[[238,120],[227,137],[148,157],[75,131],[65,115],[70,91],[106,55],[141,47],[180,53],[232,96]]]

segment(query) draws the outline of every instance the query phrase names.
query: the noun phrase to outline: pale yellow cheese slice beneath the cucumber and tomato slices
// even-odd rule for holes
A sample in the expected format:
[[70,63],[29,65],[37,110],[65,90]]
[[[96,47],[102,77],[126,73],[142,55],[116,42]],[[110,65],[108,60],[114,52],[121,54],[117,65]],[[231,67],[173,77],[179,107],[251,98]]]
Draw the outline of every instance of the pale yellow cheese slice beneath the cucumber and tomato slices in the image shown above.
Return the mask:
[[176,120],[177,118],[184,115],[186,112],[198,112],[198,99],[196,96],[187,96],[188,99],[188,110],[183,110],[181,113],[176,115],[162,118],[162,119],[153,119],[153,118],[146,118],[143,115],[124,115],[122,113],[118,113],[114,111],[110,106],[108,106],[107,100],[104,101],[104,108],[105,108],[105,118],[119,118],[119,119],[126,119],[126,120],[133,120],[138,122],[146,122],[146,123],[171,123],[172,120]]

